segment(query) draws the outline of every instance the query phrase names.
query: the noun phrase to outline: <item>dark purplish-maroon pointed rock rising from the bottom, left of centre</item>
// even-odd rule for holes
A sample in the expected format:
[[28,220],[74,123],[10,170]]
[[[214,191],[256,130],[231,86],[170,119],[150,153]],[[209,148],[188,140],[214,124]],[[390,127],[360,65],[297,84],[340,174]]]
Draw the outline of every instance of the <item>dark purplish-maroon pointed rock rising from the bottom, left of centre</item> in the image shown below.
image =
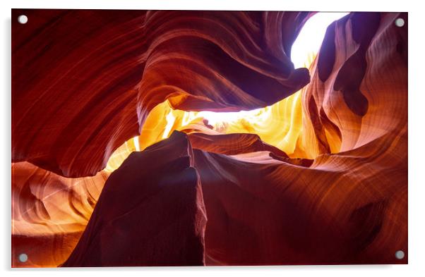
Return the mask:
[[206,220],[191,144],[175,132],[109,176],[63,266],[201,266]]

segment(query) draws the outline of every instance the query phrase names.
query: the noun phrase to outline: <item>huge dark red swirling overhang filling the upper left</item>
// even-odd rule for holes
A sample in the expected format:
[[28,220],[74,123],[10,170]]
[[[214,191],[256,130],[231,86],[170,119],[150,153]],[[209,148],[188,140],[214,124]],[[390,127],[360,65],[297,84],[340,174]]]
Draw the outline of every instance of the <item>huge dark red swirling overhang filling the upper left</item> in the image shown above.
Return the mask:
[[61,176],[95,175],[165,99],[256,109],[309,82],[289,59],[309,13],[21,13],[34,19],[12,26],[12,160]]

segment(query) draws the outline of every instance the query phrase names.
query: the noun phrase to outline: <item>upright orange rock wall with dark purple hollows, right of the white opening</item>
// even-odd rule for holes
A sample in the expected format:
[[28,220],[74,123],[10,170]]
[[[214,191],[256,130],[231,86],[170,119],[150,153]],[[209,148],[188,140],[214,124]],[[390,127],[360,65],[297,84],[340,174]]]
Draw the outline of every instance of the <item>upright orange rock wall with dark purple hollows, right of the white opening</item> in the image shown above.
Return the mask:
[[397,18],[407,22],[406,13],[352,13],[328,27],[303,99],[316,155],[405,130],[407,25]]

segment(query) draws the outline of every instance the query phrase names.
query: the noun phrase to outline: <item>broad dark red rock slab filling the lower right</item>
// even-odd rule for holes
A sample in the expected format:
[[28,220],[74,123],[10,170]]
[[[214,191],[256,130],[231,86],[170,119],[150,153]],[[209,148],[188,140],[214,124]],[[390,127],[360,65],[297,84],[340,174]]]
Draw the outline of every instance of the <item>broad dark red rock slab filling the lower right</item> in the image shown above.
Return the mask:
[[406,149],[390,151],[393,147],[375,150],[380,161],[373,155],[378,153],[356,149],[321,156],[310,168],[276,161],[268,153],[196,150],[208,216],[206,263],[404,262],[394,253],[407,250],[407,167],[388,159]]

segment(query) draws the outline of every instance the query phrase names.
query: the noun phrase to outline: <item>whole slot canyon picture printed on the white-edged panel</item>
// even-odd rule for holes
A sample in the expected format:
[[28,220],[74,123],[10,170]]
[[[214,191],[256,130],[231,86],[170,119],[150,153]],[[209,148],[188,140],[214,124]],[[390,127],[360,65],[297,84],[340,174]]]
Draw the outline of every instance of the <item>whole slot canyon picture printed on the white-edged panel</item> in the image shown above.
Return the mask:
[[407,13],[22,14],[12,266],[407,264]]

